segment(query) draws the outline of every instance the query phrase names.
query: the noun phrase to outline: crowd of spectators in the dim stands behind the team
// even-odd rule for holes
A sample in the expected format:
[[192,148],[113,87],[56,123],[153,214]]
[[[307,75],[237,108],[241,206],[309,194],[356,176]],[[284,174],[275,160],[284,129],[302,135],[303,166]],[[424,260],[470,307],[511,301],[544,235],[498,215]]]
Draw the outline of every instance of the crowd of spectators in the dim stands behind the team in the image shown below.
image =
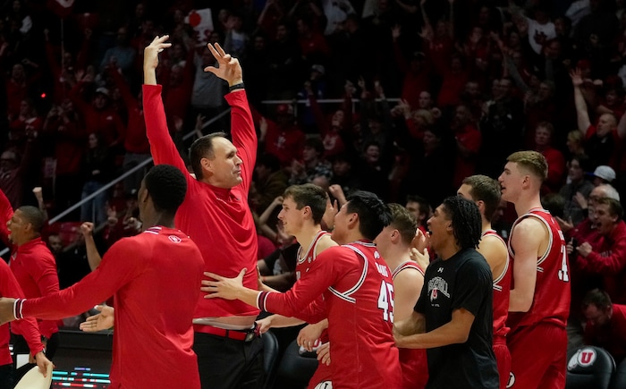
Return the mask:
[[[555,213],[568,239],[579,225],[602,227],[592,219],[605,204],[590,199],[597,185],[613,184],[613,199],[626,189],[623,0],[210,6],[213,30],[198,31],[195,10],[206,5],[192,0],[3,2],[0,189],[13,207],[36,204],[30,189],[40,186],[42,207],[53,217],[149,157],[142,55],[165,33],[173,47],[157,79],[183,156],[183,134],[228,128],[227,115],[206,124],[226,108],[227,86],[203,72],[216,62],[205,43],[240,59],[260,143],[250,196],[258,216],[288,185],[314,182],[332,195],[362,189],[402,204],[424,199],[423,220],[427,205],[453,194],[464,177],[497,177],[519,149],[546,156],[543,194],[558,198]],[[131,199],[142,173],[66,221],[105,227],[104,248],[136,233]],[[622,218],[616,204],[600,206],[618,217],[613,224]],[[499,222],[509,214],[503,207]],[[259,232],[271,242],[259,258],[290,242],[270,215],[263,221]],[[600,258],[609,245],[588,241],[593,247],[571,248],[585,247],[573,252],[574,267],[577,253]],[[594,265],[596,257],[581,260],[579,271],[611,271],[610,285],[619,289],[626,257],[613,259],[606,269]],[[626,303],[622,292],[610,293],[614,303]]]

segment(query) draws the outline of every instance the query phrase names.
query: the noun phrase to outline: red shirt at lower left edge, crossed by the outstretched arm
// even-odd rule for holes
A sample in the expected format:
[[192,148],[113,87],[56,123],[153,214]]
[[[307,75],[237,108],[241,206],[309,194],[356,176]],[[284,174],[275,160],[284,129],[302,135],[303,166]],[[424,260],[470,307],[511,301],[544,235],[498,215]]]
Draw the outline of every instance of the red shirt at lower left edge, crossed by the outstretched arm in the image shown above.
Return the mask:
[[[6,265],[4,260],[0,260],[0,296],[13,298],[24,297],[24,293],[21,292],[20,284],[17,283],[11,269]],[[11,324],[11,329],[13,330],[13,334],[19,334],[24,337],[29,344],[30,353],[32,355],[44,350],[37,320],[34,318],[14,321]],[[0,366],[9,365],[13,362],[11,351],[9,351],[10,337],[9,325],[4,324],[0,326]]]

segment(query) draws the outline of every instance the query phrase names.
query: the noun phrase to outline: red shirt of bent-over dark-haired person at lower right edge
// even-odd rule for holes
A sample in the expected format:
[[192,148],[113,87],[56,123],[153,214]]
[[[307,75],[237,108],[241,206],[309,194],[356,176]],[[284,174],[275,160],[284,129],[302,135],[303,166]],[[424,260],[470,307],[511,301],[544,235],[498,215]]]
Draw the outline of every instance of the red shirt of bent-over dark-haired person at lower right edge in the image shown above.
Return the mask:
[[613,304],[613,316],[607,327],[596,328],[588,320],[584,338],[585,344],[609,351],[619,364],[626,357],[626,305]]

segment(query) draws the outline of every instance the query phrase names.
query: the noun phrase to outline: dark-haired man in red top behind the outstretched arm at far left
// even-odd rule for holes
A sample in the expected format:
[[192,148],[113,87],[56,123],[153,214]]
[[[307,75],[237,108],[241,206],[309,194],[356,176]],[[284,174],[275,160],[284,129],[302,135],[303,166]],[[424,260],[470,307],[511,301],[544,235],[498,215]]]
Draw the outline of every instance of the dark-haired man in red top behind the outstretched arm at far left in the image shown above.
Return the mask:
[[[0,190],[0,239],[11,249],[9,266],[20,283],[27,298],[47,296],[59,292],[59,277],[56,274],[55,257],[41,240],[45,224],[44,215],[37,207],[22,206],[13,212],[11,203]],[[59,328],[55,320],[40,320],[39,332],[47,343],[47,356],[55,356],[58,346]],[[20,335],[13,340],[15,354],[27,354],[26,343]]]

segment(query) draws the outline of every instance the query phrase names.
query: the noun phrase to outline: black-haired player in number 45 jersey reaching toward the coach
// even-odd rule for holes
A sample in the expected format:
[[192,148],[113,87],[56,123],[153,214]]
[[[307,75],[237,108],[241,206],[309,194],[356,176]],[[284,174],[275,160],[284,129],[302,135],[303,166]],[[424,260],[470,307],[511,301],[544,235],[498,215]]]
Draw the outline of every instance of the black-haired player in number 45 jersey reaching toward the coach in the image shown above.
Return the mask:
[[[375,194],[353,193],[334,217],[333,240],[342,246],[317,256],[308,275],[288,292],[258,292],[241,276],[203,281],[208,299],[239,299],[259,309],[317,323],[328,318],[334,388],[399,388],[398,349],[393,345],[391,271],[372,240],[389,224],[389,210]],[[322,294],[326,309],[310,304]],[[310,305],[309,305],[310,304]],[[320,383],[319,387],[326,387]]]

